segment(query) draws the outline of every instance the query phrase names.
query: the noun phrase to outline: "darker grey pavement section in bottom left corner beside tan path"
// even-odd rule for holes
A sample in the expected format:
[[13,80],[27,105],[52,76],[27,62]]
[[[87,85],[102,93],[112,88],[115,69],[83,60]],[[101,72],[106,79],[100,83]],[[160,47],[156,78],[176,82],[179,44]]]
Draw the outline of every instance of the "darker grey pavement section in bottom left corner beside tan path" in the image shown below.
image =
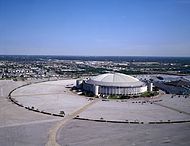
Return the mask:
[[55,121],[30,122],[0,127],[1,146],[44,146]]

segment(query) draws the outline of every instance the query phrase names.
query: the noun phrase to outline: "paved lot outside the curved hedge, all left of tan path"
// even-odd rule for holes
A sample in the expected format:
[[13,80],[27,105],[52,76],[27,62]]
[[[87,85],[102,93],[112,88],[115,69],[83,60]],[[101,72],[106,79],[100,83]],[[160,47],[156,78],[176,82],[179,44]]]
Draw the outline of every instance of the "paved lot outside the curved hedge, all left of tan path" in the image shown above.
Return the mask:
[[43,146],[50,128],[62,119],[31,112],[10,102],[9,92],[23,84],[0,81],[0,146]]

